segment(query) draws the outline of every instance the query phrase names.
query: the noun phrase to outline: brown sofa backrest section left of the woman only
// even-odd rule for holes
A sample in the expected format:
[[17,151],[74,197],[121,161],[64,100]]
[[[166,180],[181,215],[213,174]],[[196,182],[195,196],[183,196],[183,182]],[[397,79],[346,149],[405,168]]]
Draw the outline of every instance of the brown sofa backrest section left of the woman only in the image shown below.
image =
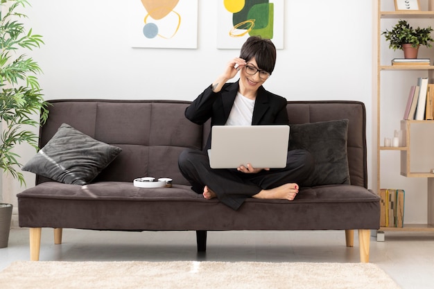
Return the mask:
[[[137,177],[170,177],[189,184],[177,158],[185,148],[202,148],[202,125],[184,116],[186,101],[51,100],[49,119],[40,130],[40,148],[67,123],[90,137],[122,148],[94,180],[132,182]],[[38,176],[37,183],[48,179]]]

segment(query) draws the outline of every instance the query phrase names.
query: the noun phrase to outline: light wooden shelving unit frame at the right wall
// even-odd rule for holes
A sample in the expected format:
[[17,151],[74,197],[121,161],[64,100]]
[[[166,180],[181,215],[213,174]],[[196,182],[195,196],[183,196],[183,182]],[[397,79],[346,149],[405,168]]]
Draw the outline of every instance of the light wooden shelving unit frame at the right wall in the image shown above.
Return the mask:
[[[381,49],[388,49],[388,47],[381,47],[381,21],[383,19],[434,19],[434,0],[428,0],[428,10],[426,11],[383,11],[381,10],[381,2],[392,2],[392,0],[376,0],[376,37],[377,37],[377,51],[376,51],[376,126],[377,126],[377,192],[381,189],[381,153],[384,151],[396,151],[401,156],[401,175],[405,177],[424,177],[428,182],[428,216],[427,224],[422,225],[406,225],[404,220],[404,226],[402,228],[397,227],[381,227],[377,231],[377,240],[384,240],[385,231],[417,231],[417,232],[432,232],[434,231],[434,174],[431,172],[414,172],[410,171],[410,134],[411,127],[417,123],[433,124],[434,121],[401,121],[401,130],[405,139],[405,146],[403,147],[384,147],[381,146],[381,73],[387,73],[387,71],[399,71],[400,73],[406,73],[406,71],[428,71],[428,80],[430,83],[434,83],[434,66],[427,67],[421,66],[406,66],[406,67],[393,67],[391,65],[382,65],[381,63]],[[422,1],[421,1],[422,2]],[[431,58],[434,60],[434,57]],[[390,61],[390,60],[388,60]],[[384,62],[384,61],[383,61]],[[390,62],[389,62],[390,63]],[[411,192],[410,192],[411,193]]]

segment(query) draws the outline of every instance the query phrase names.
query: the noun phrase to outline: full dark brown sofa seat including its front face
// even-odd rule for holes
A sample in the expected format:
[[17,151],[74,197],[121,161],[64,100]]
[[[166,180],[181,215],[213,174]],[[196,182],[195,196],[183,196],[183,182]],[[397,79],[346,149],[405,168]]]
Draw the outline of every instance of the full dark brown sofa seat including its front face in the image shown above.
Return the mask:
[[[189,186],[46,182],[18,194],[21,227],[132,231],[378,229],[379,197],[361,186],[304,188],[294,201],[248,198],[238,211]],[[49,212],[49,213],[46,213]],[[252,213],[254,212],[254,213]],[[363,216],[355,215],[363,212]]]

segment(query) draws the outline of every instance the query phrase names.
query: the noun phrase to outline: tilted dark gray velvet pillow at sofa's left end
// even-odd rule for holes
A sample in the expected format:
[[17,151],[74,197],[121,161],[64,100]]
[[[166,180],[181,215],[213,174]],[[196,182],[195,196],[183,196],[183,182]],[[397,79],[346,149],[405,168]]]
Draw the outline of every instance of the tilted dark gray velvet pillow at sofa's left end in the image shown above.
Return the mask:
[[63,123],[46,146],[22,168],[65,184],[87,184],[121,148],[92,139]]

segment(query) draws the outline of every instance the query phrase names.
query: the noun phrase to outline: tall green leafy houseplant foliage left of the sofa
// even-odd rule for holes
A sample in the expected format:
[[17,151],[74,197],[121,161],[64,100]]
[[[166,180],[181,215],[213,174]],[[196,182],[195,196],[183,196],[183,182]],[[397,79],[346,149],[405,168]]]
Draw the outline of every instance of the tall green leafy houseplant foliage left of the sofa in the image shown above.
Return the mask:
[[[0,168],[25,184],[19,155],[12,151],[19,143],[37,149],[37,135],[31,126],[39,127],[48,117],[36,75],[41,73],[37,62],[22,51],[39,48],[42,36],[26,31],[19,20],[26,15],[19,7],[30,6],[26,0],[1,0],[0,10]],[[21,54],[22,53],[22,54]],[[35,116],[40,116],[38,119]],[[30,125],[30,126],[29,126]]]

